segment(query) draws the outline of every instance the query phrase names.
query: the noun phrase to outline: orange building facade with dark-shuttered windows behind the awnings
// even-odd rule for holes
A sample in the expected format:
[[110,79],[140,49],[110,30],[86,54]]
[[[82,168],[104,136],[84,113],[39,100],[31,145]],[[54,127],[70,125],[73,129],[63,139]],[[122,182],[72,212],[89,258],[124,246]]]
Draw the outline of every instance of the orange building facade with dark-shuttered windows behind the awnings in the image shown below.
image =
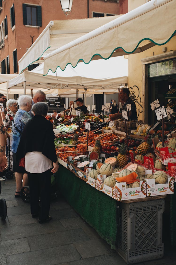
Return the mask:
[[73,0],[72,12],[68,17],[61,10],[59,0],[0,0],[0,72],[18,73],[18,61],[50,20],[111,16],[127,12],[127,0]]

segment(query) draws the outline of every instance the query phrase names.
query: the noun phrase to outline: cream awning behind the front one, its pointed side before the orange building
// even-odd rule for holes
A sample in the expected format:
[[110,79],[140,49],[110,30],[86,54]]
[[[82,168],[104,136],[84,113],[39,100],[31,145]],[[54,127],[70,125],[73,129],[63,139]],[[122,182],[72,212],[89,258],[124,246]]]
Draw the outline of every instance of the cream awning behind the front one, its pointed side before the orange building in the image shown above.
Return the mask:
[[112,21],[118,16],[121,15],[50,21],[40,36],[18,61],[19,73],[42,56]]

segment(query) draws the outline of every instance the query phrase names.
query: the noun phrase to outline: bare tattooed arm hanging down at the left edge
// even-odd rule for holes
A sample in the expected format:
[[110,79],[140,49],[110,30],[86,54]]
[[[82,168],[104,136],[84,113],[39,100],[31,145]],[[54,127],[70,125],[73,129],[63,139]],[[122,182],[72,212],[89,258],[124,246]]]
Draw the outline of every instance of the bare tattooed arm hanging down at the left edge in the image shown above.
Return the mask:
[[7,167],[6,157],[6,128],[4,126],[2,113],[0,111],[0,171],[4,171]]

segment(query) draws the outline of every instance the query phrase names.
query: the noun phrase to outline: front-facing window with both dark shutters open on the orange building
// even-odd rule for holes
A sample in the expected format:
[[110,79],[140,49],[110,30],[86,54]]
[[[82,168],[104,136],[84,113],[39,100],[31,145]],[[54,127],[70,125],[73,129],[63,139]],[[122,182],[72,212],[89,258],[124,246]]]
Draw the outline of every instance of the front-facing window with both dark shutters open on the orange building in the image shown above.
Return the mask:
[[23,4],[23,24],[41,27],[41,6]]

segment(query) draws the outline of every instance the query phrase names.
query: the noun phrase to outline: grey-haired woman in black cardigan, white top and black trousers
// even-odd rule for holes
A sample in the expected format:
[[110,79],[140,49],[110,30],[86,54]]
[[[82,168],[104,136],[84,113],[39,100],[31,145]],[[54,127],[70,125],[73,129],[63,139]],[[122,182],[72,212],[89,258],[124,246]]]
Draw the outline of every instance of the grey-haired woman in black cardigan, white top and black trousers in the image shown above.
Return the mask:
[[[32,106],[34,117],[23,129],[18,145],[16,159],[25,157],[25,167],[28,173],[31,214],[37,217],[39,223],[50,221],[50,189],[51,174],[58,171],[58,162],[54,146],[53,125],[46,120],[48,105],[37,102]],[[40,206],[39,206],[40,197]]]

